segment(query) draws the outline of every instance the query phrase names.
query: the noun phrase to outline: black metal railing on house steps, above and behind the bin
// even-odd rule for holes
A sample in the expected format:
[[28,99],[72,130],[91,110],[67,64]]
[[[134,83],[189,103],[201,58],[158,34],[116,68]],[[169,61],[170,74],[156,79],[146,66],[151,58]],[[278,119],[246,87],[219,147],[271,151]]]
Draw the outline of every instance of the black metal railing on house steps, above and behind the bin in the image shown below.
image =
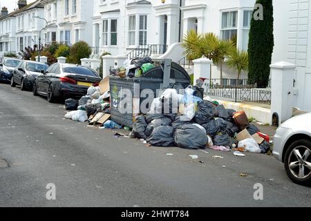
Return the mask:
[[163,55],[167,52],[167,45],[163,44],[144,44],[131,50],[126,57],[134,59],[138,57],[150,57],[151,55]]

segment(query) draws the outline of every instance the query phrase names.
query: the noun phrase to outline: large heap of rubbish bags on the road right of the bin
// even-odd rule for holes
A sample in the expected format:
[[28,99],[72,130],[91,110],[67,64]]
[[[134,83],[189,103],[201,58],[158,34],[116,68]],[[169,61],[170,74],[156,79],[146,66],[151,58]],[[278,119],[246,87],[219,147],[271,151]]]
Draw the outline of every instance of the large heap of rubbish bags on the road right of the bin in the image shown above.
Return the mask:
[[267,135],[250,124],[243,111],[203,100],[195,96],[199,91],[194,86],[186,88],[184,95],[175,89],[164,90],[153,100],[149,113],[135,117],[131,137],[144,139],[150,146],[252,153],[270,150]]

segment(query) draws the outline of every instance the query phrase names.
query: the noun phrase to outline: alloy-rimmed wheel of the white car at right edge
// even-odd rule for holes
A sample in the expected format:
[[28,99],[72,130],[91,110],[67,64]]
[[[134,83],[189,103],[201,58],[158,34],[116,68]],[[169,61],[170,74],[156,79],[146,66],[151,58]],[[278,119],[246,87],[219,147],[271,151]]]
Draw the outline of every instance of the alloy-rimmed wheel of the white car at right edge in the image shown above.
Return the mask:
[[311,141],[296,140],[285,153],[285,171],[288,177],[303,186],[311,185]]

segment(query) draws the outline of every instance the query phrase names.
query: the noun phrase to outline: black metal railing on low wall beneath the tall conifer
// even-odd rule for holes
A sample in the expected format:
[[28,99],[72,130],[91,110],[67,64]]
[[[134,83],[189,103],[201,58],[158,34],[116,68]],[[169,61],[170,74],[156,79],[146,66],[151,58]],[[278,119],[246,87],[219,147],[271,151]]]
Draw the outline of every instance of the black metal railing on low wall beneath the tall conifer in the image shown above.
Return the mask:
[[271,104],[270,86],[270,79],[207,79],[204,84],[205,95],[261,104]]

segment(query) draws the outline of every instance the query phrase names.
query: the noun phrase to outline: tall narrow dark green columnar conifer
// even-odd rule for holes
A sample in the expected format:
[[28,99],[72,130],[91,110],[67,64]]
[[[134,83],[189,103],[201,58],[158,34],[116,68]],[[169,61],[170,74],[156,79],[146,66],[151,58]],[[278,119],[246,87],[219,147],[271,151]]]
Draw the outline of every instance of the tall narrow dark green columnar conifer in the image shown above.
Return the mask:
[[[273,5],[272,0],[257,0],[263,6],[263,19],[259,18],[258,8],[255,8],[249,30],[248,56],[249,74],[251,84],[256,79],[262,79],[258,86],[265,88],[269,82],[270,64],[274,47],[273,35]],[[259,10],[261,10],[259,8]]]

